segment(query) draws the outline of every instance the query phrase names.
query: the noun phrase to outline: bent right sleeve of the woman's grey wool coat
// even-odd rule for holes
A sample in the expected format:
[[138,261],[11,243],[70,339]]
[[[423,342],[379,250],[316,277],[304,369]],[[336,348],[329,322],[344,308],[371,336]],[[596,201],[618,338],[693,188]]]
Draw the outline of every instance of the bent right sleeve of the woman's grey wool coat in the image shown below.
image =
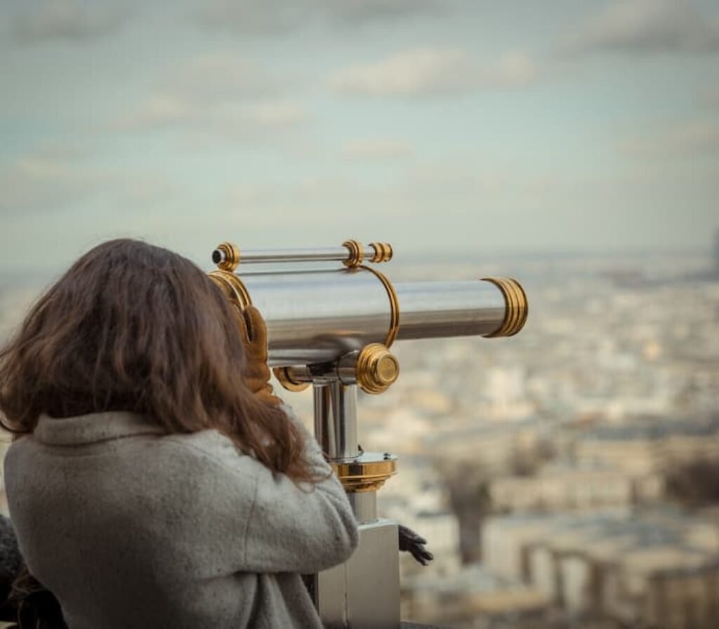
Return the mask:
[[357,522],[347,495],[324,460],[314,437],[296,421],[305,438],[313,486],[296,485],[262,466],[247,525],[245,561],[257,572],[318,572],[342,563],[357,548]]

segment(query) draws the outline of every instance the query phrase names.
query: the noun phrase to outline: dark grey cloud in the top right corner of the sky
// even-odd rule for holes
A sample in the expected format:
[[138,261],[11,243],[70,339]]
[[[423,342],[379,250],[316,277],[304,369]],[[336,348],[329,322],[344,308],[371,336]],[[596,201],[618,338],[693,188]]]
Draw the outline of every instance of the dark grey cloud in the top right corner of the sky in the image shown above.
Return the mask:
[[620,0],[592,15],[562,45],[565,53],[716,52],[719,21],[690,0]]

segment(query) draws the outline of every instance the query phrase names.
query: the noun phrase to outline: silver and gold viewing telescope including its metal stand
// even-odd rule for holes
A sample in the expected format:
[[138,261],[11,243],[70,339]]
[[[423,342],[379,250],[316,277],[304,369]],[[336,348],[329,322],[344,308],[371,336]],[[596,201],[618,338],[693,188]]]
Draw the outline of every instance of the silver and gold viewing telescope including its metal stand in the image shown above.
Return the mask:
[[313,387],[316,439],[359,524],[352,557],[309,582],[331,629],[400,627],[398,525],[377,515],[377,491],[395,474],[397,457],[357,444],[357,388],[379,395],[398,379],[395,341],[513,336],[528,314],[516,280],[393,283],[377,268],[392,257],[388,243],[357,240],[242,252],[223,242],[212,253],[211,280],[240,310],[252,304],[262,313],[268,364],[280,384]]

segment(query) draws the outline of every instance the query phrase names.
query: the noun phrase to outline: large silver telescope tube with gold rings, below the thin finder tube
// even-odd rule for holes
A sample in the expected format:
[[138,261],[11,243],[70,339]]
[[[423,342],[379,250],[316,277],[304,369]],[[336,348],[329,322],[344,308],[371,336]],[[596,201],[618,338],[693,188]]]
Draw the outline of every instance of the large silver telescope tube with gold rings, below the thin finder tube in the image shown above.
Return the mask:
[[511,336],[527,316],[523,290],[502,278],[392,285],[367,267],[211,275],[230,296],[239,280],[241,305],[262,313],[270,367],[331,362],[395,339]]

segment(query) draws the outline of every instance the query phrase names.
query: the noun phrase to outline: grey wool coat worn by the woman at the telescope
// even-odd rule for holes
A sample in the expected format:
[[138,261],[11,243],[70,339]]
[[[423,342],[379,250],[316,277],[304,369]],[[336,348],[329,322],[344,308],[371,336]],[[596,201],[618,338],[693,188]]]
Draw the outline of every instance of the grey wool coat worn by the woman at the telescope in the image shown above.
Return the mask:
[[214,430],[168,435],[132,413],[40,418],[5,459],[22,554],[70,629],[320,628],[299,577],[357,546],[311,435],[313,489]]

